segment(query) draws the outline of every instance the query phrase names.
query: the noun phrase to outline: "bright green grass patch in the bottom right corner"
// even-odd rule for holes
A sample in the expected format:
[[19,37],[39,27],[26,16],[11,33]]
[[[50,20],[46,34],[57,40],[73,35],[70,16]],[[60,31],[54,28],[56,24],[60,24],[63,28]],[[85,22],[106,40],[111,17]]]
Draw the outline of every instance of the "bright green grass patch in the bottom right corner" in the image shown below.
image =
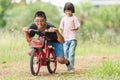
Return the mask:
[[120,80],[120,61],[103,61],[101,66],[93,66],[86,74],[93,80]]

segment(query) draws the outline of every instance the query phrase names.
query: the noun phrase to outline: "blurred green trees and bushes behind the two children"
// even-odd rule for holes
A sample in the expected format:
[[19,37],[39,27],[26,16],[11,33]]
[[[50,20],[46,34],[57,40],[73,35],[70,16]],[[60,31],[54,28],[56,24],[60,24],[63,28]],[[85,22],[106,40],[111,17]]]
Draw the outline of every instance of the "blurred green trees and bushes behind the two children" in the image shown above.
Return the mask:
[[[81,27],[78,31],[79,41],[95,43],[120,44],[120,5],[93,6],[89,2],[75,5],[76,15]],[[16,3],[9,0],[0,1],[0,28],[9,32],[21,32],[25,26],[33,22],[34,13],[42,10],[46,13],[48,22],[59,27],[64,16],[63,8],[51,3],[26,0]]]

